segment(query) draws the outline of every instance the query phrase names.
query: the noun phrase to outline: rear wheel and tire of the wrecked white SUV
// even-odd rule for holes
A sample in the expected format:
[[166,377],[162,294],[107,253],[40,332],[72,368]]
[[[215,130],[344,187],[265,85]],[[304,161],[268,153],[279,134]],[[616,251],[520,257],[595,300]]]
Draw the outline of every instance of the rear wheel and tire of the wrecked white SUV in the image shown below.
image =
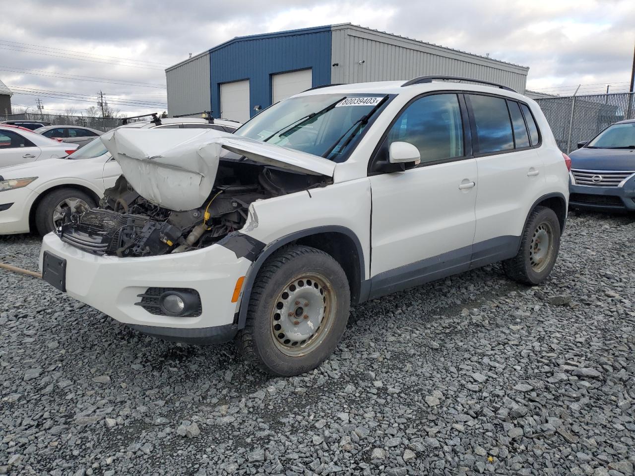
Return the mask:
[[533,286],[545,281],[558,258],[560,222],[551,209],[537,206],[527,220],[518,254],[503,261],[505,274]]

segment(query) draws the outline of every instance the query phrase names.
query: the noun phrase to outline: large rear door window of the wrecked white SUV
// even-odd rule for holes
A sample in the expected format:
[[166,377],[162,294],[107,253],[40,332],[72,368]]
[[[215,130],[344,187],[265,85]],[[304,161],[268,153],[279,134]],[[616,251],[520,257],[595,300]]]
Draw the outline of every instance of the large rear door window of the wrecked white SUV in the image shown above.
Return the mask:
[[514,149],[512,124],[503,98],[467,95],[476,124],[476,149],[479,154]]

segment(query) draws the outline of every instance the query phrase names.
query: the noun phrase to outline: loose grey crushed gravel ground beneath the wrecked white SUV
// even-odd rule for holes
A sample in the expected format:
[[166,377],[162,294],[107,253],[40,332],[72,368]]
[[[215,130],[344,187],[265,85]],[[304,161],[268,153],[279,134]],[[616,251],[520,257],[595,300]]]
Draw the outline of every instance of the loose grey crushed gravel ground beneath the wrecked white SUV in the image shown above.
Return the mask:
[[296,378],[0,270],[0,474],[632,475],[634,236],[580,214],[544,286],[495,265],[368,302]]

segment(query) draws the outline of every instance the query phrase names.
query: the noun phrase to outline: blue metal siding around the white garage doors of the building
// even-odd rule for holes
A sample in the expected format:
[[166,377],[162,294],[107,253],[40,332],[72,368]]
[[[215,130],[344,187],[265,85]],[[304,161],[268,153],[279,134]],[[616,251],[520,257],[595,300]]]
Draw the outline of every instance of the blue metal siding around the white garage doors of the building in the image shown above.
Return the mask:
[[211,110],[220,114],[220,84],[250,80],[250,114],[272,102],[272,75],[312,69],[313,86],[331,82],[331,27],[234,38],[210,50]]

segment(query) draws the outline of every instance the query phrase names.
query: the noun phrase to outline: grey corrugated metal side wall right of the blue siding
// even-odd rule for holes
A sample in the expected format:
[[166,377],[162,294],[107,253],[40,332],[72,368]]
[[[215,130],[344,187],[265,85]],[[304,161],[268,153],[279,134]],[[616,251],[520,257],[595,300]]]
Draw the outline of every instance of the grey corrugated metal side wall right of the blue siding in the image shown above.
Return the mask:
[[[372,32],[333,27],[331,83],[411,79],[428,74],[473,77],[525,91],[528,68],[462,51]],[[363,64],[359,61],[364,60]]]

